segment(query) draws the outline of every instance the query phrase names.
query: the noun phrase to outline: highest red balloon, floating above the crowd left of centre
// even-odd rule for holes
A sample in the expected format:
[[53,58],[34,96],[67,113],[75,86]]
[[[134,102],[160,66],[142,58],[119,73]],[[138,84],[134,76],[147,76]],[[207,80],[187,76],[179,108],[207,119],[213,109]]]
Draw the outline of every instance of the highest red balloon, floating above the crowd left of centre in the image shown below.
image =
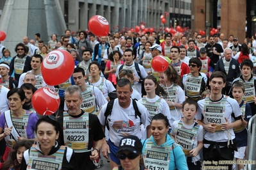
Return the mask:
[[108,20],[101,15],[94,15],[88,22],[90,31],[96,36],[107,36],[109,33]]

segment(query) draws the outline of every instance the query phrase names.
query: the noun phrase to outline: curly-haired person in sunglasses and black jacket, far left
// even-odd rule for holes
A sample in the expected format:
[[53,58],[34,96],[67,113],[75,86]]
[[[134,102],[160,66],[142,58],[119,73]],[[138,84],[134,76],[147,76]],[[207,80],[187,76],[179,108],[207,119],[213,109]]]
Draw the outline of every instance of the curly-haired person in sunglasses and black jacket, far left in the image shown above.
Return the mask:
[[22,73],[26,73],[32,69],[30,65],[31,58],[26,55],[28,48],[23,43],[16,45],[15,52],[17,52],[17,55],[13,57],[10,63],[9,75],[11,76],[14,72],[14,79],[18,81]]

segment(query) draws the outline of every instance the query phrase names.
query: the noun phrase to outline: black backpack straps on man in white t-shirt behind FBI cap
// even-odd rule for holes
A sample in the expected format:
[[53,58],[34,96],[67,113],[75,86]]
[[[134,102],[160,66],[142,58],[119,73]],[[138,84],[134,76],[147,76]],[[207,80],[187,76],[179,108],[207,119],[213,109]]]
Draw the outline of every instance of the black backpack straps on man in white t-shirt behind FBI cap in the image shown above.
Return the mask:
[[[132,99],[132,105],[133,105],[133,109],[135,111],[135,118],[137,119],[137,116],[139,116],[139,118],[141,119],[141,112],[139,111],[138,105],[136,103],[136,100]],[[107,109],[104,113],[105,116],[105,127],[107,127],[107,129],[109,130],[109,125],[108,125],[108,121],[107,121],[107,117],[111,115],[112,113],[112,109],[113,109],[113,105],[114,105],[114,101],[115,100],[110,100],[107,104]],[[105,129],[105,128],[104,128]]]

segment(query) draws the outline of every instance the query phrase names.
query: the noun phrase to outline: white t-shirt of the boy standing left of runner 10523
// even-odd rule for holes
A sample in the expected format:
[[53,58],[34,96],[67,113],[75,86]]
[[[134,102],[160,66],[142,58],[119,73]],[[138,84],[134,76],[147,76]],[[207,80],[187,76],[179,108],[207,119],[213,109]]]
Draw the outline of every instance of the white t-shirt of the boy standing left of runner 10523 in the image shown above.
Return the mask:
[[[173,128],[171,129],[171,135],[176,135],[175,134],[175,128],[178,127],[179,122],[180,122],[180,120],[176,120],[176,121],[173,122]],[[194,122],[194,123],[196,123],[196,122]],[[182,124],[185,128],[191,129],[191,128],[194,127],[194,124],[190,125],[190,126],[185,125],[183,122],[182,122]],[[200,127],[198,129],[198,133],[196,134],[196,137],[194,139],[193,149],[196,148],[196,146],[198,146],[198,141],[201,141],[201,142],[203,141],[203,126],[202,125],[200,125]],[[194,158],[194,157],[192,157],[192,158]],[[196,155],[196,158],[194,158],[194,160],[195,160],[195,162],[200,160],[200,154]]]

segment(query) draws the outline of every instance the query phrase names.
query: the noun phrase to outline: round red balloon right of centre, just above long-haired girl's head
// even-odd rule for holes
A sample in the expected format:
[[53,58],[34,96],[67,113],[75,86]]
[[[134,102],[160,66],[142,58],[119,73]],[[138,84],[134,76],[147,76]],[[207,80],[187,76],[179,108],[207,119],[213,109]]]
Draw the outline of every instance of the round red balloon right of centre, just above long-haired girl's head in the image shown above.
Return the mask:
[[156,72],[164,72],[167,70],[169,62],[163,56],[155,56],[151,61],[151,66]]

